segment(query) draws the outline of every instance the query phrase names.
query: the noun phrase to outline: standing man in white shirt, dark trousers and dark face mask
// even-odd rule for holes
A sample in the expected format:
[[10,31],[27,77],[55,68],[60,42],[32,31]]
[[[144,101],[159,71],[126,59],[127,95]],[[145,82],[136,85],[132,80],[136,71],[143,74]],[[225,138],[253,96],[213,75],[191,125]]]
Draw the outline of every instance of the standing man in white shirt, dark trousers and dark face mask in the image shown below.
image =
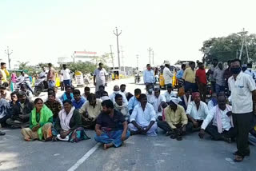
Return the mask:
[[238,151],[234,153],[234,161],[243,161],[245,156],[250,155],[248,137],[253,112],[256,112],[256,86],[249,75],[241,72],[240,60],[232,60],[230,67],[233,76],[229,78],[228,84],[231,91],[234,127],[237,129],[238,148]]

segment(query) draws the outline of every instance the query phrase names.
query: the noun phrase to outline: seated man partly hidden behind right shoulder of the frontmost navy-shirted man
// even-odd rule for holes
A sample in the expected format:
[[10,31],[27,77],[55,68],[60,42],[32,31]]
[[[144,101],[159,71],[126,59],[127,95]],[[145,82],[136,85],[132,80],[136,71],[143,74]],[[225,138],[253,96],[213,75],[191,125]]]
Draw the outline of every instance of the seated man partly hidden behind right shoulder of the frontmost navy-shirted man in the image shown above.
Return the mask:
[[115,97],[114,109],[117,109],[129,121],[130,114],[127,105],[122,101],[122,95],[117,94]]

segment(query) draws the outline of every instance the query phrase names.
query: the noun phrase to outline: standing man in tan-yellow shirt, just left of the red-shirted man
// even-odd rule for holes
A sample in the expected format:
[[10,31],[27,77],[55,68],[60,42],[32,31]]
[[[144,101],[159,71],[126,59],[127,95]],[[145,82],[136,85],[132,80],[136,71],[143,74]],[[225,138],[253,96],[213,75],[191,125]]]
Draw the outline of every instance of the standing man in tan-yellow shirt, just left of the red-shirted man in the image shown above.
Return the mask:
[[183,74],[183,79],[185,80],[185,90],[186,89],[192,89],[193,92],[196,92],[198,90],[198,85],[195,82],[195,74],[196,70],[194,70],[195,63],[190,62],[190,67],[188,67]]

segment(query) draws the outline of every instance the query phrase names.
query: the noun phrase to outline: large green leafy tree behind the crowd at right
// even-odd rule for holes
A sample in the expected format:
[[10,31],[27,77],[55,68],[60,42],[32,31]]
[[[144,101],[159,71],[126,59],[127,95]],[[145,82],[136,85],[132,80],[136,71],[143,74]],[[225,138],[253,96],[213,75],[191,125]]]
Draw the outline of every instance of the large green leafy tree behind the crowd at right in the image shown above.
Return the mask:
[[[246,36],[249,58],[252,62],[256,61],[256,34],[248,34],[247,32],[240,32],[237,34],[230,34],[222,38],[210,38],[203,42],[200,49],[204,54],[203,62],[209,64],[212,59],[218,58],[220,62],[227,62],[230,59],[239,57],[242,46],[242,34]],[[247,62],[246,47],[242,51],[242,62]]]

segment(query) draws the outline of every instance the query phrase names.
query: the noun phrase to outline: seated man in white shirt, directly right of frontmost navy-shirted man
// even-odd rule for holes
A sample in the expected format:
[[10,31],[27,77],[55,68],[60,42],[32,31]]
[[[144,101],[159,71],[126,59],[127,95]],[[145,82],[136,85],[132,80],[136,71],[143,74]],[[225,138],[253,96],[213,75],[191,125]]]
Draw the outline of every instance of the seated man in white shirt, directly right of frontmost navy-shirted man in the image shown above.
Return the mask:
[[130,124],[128,125],[130,133],[157,136],[158,125],[153,105],[147,102],[146,94],[139,96],[140,103],[135,106],[130,115]]

